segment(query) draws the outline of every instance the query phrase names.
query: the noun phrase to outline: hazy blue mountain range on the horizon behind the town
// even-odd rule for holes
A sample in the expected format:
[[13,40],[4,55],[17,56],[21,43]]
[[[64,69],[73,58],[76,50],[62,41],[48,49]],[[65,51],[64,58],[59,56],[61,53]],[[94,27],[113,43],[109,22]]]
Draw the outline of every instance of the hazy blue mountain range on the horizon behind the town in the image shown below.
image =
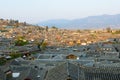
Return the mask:
[[98,28],[120,28],[120,14],[89,16],[74,20],[48,20],[38,23],[40,26],[56,26],[65,29],[98,29]]

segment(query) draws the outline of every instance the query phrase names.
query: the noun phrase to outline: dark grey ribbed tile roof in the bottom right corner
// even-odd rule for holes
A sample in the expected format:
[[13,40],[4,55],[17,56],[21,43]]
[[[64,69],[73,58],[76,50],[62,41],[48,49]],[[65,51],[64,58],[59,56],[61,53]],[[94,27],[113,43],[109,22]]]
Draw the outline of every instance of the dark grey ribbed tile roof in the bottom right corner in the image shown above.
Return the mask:
[[120,68],[83,68],[85,80],[120,80]]

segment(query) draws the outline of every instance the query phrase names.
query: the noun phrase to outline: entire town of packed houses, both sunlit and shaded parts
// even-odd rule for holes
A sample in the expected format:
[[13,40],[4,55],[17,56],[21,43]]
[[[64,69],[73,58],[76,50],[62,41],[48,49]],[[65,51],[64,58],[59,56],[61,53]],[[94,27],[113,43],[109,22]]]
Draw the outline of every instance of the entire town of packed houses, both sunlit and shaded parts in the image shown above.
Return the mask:
[[[120,34],[112,32],[0,19],[0,80],[119,80]],[[15,45],[19,39],[29,44]],[[45,51],[38,45],[43,39]]]

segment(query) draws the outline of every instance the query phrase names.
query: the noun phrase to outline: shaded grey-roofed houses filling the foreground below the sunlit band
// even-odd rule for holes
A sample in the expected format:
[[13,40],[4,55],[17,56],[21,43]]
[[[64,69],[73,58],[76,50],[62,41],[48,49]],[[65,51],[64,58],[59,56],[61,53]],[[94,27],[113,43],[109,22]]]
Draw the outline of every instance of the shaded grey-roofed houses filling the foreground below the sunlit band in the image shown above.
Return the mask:
[[120,38],[81,46],[47,47],[0,67],[0,80],[119,80]]

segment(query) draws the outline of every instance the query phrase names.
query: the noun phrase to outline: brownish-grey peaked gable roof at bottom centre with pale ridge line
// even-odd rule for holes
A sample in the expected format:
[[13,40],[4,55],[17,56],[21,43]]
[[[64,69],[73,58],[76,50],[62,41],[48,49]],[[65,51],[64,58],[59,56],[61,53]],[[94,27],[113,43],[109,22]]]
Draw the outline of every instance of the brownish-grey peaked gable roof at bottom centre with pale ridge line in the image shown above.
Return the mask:
[[69,76],[72,80],[77,80],[78,69],[76,65],[65,62],[49,70],[45,80],[66,80]]

